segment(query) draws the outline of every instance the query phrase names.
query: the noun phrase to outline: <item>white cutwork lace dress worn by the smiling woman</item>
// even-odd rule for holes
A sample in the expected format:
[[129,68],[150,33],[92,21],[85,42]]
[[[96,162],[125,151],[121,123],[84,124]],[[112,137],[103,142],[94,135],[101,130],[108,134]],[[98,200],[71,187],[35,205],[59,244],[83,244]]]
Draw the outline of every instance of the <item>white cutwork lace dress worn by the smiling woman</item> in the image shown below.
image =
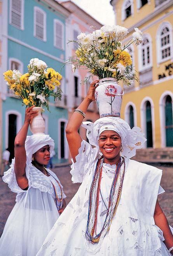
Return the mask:
[[[117,212],[110,230],[99,245],[89,243],[86,249],[86,226],[89,190],[98,156],[91,145],[82,141],[76,163],[72,165],[72,181],[82,182],[72,201],[66,206],[47,235],[37,256],[168,256],[162,240],[163,232],[154,223],[154,209],[162,171],[137,161],[126,159],[124,183]],[[103,164],[97,233],[107,213],[110,187],[115,165]]]

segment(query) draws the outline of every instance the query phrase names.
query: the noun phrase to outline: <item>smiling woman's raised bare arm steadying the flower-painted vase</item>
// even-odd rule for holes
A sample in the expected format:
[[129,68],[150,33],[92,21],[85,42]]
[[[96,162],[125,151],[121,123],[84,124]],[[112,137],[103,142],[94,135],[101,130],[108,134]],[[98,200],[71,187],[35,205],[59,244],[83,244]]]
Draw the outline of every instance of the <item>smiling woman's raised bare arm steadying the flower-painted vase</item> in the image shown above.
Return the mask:
[[[87,96],[78,107],[78,109],[82,110],[84,113],[86,113],[89,104],[95,100],[94,93],[97,87],[96,83],[98,82],[99,80],[96,80],[90,84]],[[78,130],[80,128],[80,125],[82,124],[83,119],[84,117],[81,114],[74,112],[66,126],[66,138],[74,162],[76,161],[75,157],[79,153],[79,148],[82,141]]]

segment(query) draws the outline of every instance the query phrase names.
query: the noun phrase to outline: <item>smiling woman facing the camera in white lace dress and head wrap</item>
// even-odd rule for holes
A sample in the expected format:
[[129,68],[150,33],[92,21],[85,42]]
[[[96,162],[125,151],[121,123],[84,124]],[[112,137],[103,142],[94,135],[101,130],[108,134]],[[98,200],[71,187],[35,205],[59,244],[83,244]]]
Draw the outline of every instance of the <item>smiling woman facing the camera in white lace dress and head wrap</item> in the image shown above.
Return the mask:
[[129,159],[146,141],[140,128],[103,117],[83,123],[89,143],[78,133],[97,82],[66,128],[72,181],[82,184],[37,256],[171,255],[173,235],[157,201],[162,171]]

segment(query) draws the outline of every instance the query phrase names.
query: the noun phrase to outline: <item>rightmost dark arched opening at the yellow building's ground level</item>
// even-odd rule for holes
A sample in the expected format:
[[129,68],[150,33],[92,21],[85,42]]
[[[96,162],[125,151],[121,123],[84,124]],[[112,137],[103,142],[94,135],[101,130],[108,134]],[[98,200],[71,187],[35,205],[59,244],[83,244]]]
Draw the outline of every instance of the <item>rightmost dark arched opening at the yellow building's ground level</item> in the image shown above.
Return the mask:
[[166,132],[166,147],[173,147],[173,111],[172,99],[168,95],[165,101],[165,132]]

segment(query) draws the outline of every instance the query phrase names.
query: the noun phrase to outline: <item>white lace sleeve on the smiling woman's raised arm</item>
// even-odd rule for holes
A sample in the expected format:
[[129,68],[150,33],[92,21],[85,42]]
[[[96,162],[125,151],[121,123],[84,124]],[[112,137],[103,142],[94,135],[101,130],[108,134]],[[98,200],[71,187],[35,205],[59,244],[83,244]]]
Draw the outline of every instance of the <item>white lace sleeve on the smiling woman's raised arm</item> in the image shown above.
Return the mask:
[[94,163],[96,155],[96,149],[93,149],[87,141],[82,140],[79,154],[76,156],[76,162],[74,163],[72,159],[70,174],[72,175],[73,183],[82,183],[86,173]]

